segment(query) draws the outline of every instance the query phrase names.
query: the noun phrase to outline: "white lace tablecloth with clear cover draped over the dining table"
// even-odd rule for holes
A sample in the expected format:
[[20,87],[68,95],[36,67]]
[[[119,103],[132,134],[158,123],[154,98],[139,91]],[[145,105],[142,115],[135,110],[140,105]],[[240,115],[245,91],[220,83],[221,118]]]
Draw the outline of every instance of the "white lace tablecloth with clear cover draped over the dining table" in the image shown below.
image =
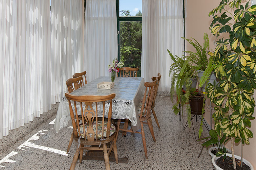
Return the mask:
[[[112,101],[112,118],[113,119],[129,119],[132,122],[133,131],[137,131],[141,129],[138,117],[138,106],[140,99],[144,92],[144,78],[143,77],[116,77],[115,79],[115,87],[107,90],[107,89],[98,89],[97,83],[102,81],[111,81],[110,77],[102,76],[97,79],[89,82],[83,87],[75,90],[71,94],[73,95],[108,95],[111,93],[115,93],[116,97]],[[109,104],[106,102],[105,110],[107,111]],[[102,105],[98,102],[98,117],[102,117]],[[107,117],[108,114],[105,114]],[[62,97],[55,123],[54,129],[56,133],[62,127],[66,127],[68,125],[68,121],[71,120],[69,104],[66,100],[66,97]]]

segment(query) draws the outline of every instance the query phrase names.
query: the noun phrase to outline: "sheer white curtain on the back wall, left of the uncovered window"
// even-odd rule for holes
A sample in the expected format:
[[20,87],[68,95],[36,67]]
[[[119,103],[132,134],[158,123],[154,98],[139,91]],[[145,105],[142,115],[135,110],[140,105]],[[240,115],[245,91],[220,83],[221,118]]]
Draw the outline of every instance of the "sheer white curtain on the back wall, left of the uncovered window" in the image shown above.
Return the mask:
[[86,0],[84,65],[87,81],[110,76],[108,64],[117,57],[117,11],[115,0]]

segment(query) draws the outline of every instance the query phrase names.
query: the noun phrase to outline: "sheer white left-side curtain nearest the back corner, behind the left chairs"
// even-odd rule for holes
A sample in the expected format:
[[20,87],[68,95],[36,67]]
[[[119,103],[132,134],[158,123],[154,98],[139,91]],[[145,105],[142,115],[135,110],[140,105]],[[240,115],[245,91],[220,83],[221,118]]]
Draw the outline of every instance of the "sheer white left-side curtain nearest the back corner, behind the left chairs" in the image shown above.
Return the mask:
[[83,56],[83,0],[51,1],[52,103],[67,92],[66,81],[81,72]]

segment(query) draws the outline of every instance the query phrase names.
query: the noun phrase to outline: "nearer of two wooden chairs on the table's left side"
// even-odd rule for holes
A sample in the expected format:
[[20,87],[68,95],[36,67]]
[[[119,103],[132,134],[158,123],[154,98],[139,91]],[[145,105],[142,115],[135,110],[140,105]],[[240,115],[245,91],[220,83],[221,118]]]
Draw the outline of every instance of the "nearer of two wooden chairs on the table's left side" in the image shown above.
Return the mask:
[[[82,81],[83,81],[82,76],[79,76],[79,77],[76,77],[76,78],[69,78],[66,81],[69,93],[74,92],[75,90],[79,89],[82,86]],[[73,86],[73,84],[74,84],[74,86]],[[82,117],[78,116],[78,120],[81,120],[81,119],[82,119]],[[72,142],[73,142],[73,135],[71,135],[71,137],[70,137],[70,141],[69,141],[69,145],[68,145],[68,149],[67,149],[67,154],[69,153],[69,149],[72,145]]]

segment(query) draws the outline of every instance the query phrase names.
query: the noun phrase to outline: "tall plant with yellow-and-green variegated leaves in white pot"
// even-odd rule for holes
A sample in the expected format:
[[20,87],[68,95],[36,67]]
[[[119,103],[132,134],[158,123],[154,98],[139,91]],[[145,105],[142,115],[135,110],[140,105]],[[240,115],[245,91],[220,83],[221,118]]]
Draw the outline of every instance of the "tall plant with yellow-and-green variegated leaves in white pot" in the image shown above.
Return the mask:
[[[210,25],[213,35],[218,38],[224,32],[229,34],[229,39],[220,38],[217,41],[216,49],[211,54],[212,62],[206,69],[208,73],[211,70],[215,72],[220,79],[220,86],[209,83],[206,91],[211,102],[216,105],[212,115],[214,130],[221,138],[224,136],[231,140],[232,154],[227,158],[232,159],[234,169],[245,162],[243,158],[236,162],[239,156],[234,155],[234,142],[249,144],[249,138],[253,137],[249,128],[250,120],[254,119],[253,94],[256,89],[256,5],[250,7],[250,2],[243,2],[245,0],[222,0],[209,13],[209,16],[213,16]],[[232,17],[228,17],[227,13]],[[207,79],[207,76],[209,74],[205,74],[202,79]],[[214,157],[212,161],[216,164],[217,158]],[[253,169],[250,163],[247,165]]]

